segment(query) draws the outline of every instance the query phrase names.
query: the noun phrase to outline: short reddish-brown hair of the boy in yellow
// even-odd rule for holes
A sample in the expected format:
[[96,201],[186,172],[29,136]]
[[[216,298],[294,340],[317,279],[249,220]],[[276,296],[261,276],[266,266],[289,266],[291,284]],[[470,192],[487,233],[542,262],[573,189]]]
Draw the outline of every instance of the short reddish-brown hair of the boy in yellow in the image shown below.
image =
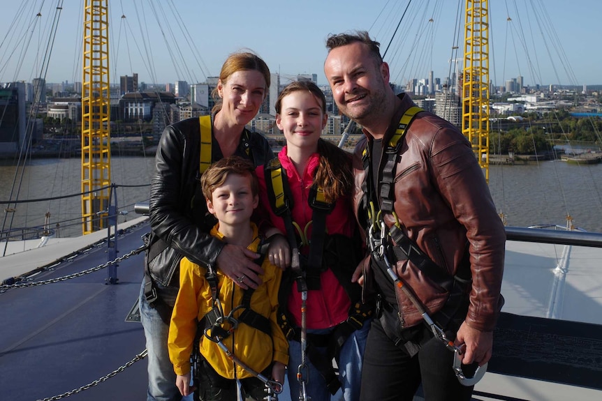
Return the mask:
[[229,174],[249,176],[251,180],[251,193],[253,196],[259,193],[259,185],[255,174],[255,166],[249,160],[240,156],[228,156],[214,162],[200,177],[200,186],[205,199],[212,200],[212,193],[216,188],[223,186]]

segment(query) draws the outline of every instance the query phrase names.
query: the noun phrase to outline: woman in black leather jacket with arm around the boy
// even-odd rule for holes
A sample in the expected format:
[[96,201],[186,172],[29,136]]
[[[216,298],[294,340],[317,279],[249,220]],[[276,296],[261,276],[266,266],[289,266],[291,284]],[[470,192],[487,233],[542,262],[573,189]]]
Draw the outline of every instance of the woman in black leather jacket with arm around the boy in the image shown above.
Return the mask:
[[[273,158],[267,140],[245,128],[256,116],[270,87],[270,70],[249,52],[230,54],[212,95],[212,116],[168,126],[156,151],[151,183],[149,250],[140,289],[140,316],[149,356],[147,400],[179,400],[176,375],[168,356],[169,319],[179,285],[179,261],[187,257],[217,266],[240,287],[256,288],[263,273],[246,248],[210,236],[214,220],[207,213],[199,179],[212,162],[242,156],[254,165]],[[243,280],[239,280],[244,278]]]

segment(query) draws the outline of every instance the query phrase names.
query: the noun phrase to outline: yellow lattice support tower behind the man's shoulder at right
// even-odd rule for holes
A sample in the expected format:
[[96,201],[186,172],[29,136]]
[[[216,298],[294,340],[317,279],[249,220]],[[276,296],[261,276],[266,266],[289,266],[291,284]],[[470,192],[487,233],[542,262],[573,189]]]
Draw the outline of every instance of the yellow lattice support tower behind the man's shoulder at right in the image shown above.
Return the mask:
[[489,182],[489,3],[466,0],[462,133]]

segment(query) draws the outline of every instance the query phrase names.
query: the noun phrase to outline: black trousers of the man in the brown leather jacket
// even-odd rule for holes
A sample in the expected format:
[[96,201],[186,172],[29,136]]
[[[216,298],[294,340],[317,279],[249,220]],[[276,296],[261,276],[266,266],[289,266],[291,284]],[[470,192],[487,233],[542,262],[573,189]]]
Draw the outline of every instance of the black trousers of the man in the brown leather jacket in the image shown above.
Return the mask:
[[379,319],[372,321],[364,352],[360,401],[412,401],[421,383],[425,401],[471,399],[473,387],[462,386],[453,372],[454,353],[432,338],[425,325],[418,331],[420,351],[410,356],[404,345],[395,345],[388,338]]

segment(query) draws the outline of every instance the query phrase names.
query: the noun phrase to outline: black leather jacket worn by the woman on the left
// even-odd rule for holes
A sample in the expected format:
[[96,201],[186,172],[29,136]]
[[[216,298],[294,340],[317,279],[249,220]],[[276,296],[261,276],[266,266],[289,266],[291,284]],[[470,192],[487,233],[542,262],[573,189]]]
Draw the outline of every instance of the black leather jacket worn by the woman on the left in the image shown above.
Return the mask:
[[[213,125],[213,124],[212,124]],[[212,138],[212,161],[221,149]],[[210,236],[215,220],[207,213],[200,190],[200,126],[198,118],[168,126],[156,151],[156,170],[151,182],[149,272],[161,285],[177,287],[179,261],[187,257],[200,265],[215,264],[224,243]],[[267,139],[245,129],[235,155],[263,165],[274,158]],[[175,276],[175,280],[173,280]]]

